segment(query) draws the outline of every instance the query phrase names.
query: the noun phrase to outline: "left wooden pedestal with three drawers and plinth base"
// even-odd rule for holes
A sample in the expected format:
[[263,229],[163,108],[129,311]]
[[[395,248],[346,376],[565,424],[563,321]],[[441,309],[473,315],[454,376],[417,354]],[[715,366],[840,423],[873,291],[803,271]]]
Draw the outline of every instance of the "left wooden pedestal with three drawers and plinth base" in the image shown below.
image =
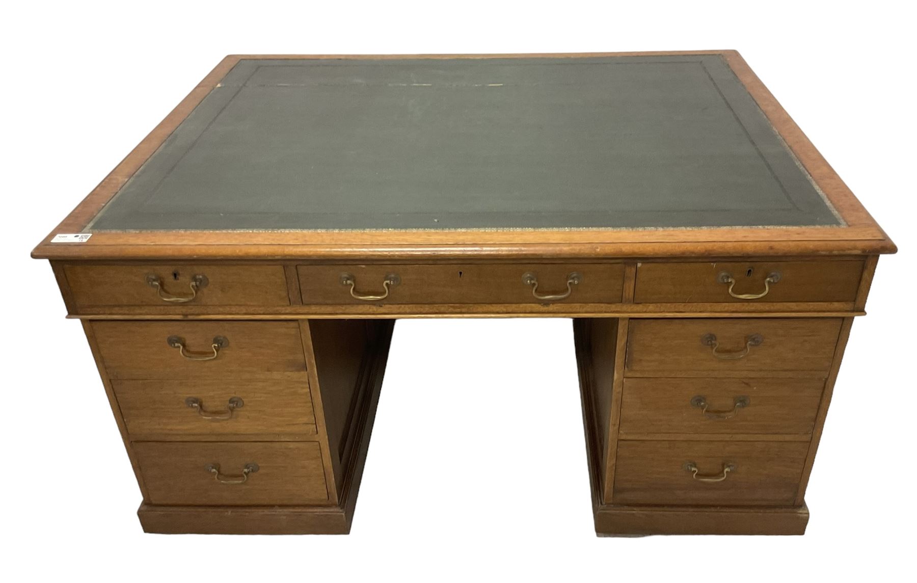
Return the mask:
[[86,319],[163,534],[348,534],[393,320]]

